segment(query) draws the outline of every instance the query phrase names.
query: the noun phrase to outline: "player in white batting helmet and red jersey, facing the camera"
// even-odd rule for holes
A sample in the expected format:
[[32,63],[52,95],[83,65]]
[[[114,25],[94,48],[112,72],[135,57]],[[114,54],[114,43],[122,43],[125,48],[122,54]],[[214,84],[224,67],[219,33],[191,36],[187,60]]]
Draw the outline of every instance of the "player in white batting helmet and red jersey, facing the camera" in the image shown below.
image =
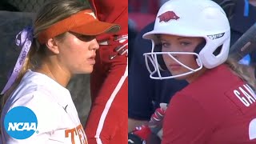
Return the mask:
[[[254,78],[227,60],[230,25],[210,0],[171,0],[158,11],[146,62],[150,78],[185,79],[190,84],[170,100],[163,119],[163,144],[255,143]],[[162,44],[161,52],[154,50]],[[161,75],[163,58],[171,76]]]

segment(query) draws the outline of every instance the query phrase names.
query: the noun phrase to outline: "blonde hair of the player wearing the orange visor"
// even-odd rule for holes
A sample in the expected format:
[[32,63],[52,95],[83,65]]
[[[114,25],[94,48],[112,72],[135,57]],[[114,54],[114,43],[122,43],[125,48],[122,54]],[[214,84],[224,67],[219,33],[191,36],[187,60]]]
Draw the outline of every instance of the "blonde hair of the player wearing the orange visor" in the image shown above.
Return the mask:
[[[88,2],[82,3],[78,0],[51,0],[42,6],[41,10],[38,11],[38,14],[34,21],[34,41],[30,48],[30,51],[25,59],[25,62],[16,78],[13,86],[1,98],[1,109],[4,106],[7,98],[10,97],[10,94],[17,88],[18,84],[21,82],[24,74],[28,69],[34,68],[38,63],[38,58],[45,57],[46,45],[40,45],[38,42],[38,34],[42,30],[46,30],[52,26],[55,22],[58,22],[62,19],[70,17],[72,14],[76,14],[79,11],[90,9]],[[58,35],[56,38],[62,38],[64,34]]]

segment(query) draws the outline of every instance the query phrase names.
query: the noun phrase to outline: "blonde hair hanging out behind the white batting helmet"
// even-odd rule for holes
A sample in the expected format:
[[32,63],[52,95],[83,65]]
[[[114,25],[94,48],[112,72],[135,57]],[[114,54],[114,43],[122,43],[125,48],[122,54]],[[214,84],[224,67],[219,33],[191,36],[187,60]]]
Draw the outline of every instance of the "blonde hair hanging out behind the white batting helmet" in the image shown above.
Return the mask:
[[244,82],[247,82],[253,90],[255,90],[256,82],[254,77],[254,67],[246,66],[238,63],[237,60],[230,57],[226,61],[226,65],[236,74],[239,78],[242,78]]

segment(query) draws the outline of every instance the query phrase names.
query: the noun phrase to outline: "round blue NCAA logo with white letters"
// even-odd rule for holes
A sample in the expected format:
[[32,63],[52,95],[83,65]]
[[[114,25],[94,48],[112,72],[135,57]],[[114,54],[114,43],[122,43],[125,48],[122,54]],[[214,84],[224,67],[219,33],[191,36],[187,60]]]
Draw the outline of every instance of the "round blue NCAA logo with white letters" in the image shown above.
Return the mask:
[[10,137],[26,139],[30,138],[30,136],[36,132],[38,127],[38,118],[30,108],[17,106],[6,114],[4,126]]

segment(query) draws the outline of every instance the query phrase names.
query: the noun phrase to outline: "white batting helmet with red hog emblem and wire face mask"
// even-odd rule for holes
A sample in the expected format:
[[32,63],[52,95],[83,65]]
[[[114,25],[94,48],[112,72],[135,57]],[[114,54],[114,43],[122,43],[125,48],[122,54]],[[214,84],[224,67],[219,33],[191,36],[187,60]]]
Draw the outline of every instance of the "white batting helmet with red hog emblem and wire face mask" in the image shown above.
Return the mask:
[[[150,39],[152,42],[151,52],[144,54],[144,56],[146,59],[150,59],[146,62],[154,63],[152,65],[155,70],[149,70],[150,78],[154,79],[157,79],[155,74],[158,74],[158,79],[165,78],[161,76],[161,66],[159,66],[157,55],[168,54],[172,58],[172,54],[175,53],[175,51],[155,52],[154,46],[161,43],[158,39],[159,34],[204,38],[206,41],[201,50],[190,52],[196,57],[198,69],[189,69],[189,66],[183,66],[178,62],[190,70],[190,72],[178,75],[192,74],[201,70],[202,66],[212,69],[226,62],[228,57],[230,24],[222,7],[211,0],[170,0],[162,5],[155,19],[154,30],[143,35],[143,38]],[[218,50],[218,54],[216,54],[216,50]],[[181,54],[186,54],[186,52]],[[148,67],[149,64],[146,66]],[[178,75],[166,78],[177,78]]]

